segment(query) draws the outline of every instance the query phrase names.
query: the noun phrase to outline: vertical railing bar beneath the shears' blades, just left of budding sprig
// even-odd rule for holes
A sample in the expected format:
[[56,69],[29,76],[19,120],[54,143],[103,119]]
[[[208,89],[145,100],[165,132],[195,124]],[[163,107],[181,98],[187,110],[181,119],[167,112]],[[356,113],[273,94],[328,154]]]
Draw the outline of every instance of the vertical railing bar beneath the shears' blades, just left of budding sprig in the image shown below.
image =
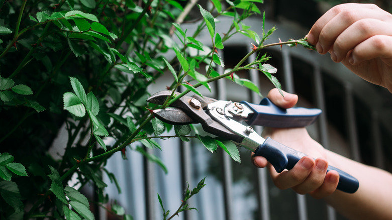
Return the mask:
[[[150,148],[145,147],[145,151],[148,154],[153,154],[153,150]],[[152,162],[148,161],[146,157],[144,157],[144,178],[145,178],[145,184],[146,184],[146,219],[147,220],[155,220],[155,196],[156,196],[156,191],[155,191],[155,170],[153,167]]]

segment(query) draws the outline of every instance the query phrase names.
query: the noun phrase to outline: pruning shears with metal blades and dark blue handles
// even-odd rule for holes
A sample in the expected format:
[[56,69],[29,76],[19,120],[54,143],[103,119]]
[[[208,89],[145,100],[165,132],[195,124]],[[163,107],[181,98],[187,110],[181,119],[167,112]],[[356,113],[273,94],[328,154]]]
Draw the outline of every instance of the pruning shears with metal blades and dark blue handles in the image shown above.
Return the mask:
[[[175,95],[179,93],[175,92]],[[173,97],[172,91],[160,91],[150,96],[147,101],[163,104]],[[263,156],[280,173],[291,169],[306,154],[291,149],[271,138],[264,139],[251,126],[260,125],[275,128],[305,127],[316,121],[321,114],[318,108],[292,107],[283,109],[273,104],[268,98],[260,104],[246,101],[232,102],[216,100],[199,95],[182,96],[170,104],[170,107],[155,109],[156,118],[172,125],[200,123],[204,131],[226,138]],[[247,125],[243,125],[245,122]],[[336,170],[339,175],[337,189],[354,193],[359,187],[358,180],[350,174],[328,166],[327,172]]]

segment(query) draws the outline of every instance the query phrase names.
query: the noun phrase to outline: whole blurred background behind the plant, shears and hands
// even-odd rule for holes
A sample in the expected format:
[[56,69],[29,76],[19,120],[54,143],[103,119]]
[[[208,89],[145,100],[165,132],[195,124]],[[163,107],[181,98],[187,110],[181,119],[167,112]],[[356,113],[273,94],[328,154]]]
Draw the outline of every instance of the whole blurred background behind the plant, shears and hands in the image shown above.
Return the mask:
[[[278,42],[278,38],[282,41],[303,38],[328,9],[346,2],[355,1],[265,0],[258,7],[260,11],[265,11],[266,29],[277,28],[267,43]],[[377,4],[389,12],[392,9],[392,2],[386,0],[356,2]],[[186,5],[186,1],[179,3]],[[198,4],[205,9],[212,7],[208,1]],[[200,18],[199,9],[194,10],[187,20]],[[218,32],[227,30],[230,22],[229,19],[220,19]],[[262,32],[262,15],[244,23],[251,26],[253,31]],[[182,26],[191,31],[196,25],[184,23]],[[199,40],[209,45],[209,34],[201,36],[205,36],[205,39]],[[230,39],[225,48],[219,51],[225,68],[234,67],[251,50],[250,43],[254,42],[240,35]],[[278,69],[275,76],[282,88],[299,95],[298,106],[323,110],[317,123],[308,128],[315,140],[346,157],[392,171],[388,160],[392,155],[392,94],[385,88],[362,80],[342,64],[332,62],[329,55],[319,55],[302,47],[283,47],[281,50],[276,47],[264,52],[271,57],[268,63]],[[269,80],[258,72],[243,71],[238,74],[255,82],[264,96],[273,88]],[[167,78],[163,77],[159,83],[151,86],[151,94],[164,90],[171,77],[168,72]],[[262,98],[230,80],[218,80],[212,88],[212,92],[201,91],[206,96],[224,100],[258,103]],[[259,133],[262,131],[261,127],[255,129]],[[189,201],[190,206],[198,211],[182,212],[175,219],[345,219],[323,200],[298,195],[291,189],[277,189],[265,169],[257,169],[251,164],[250,153],[245,149],[240,149],[240,164],[231,160],[221,149],[215,153],[209,152],[199,141],[181,142],[174,138],[160,144],[162,151],[146,150],[162,160],[167,174],[136,151],[126,151],[128,160],[123,160],[120,153],[115,154],[107,164],[107,169],[116,174],[122,193],[119,194],[114,183],[109,184],[106,191],[134,219],[162,219],[157,193],[165,209],[175,211],[187,184],[193,188],[204,177],[207,185]],[[109,179],[104,181],[110,183]],[[111,219],[105,210],[101,210],[101,213],[102,219]]]

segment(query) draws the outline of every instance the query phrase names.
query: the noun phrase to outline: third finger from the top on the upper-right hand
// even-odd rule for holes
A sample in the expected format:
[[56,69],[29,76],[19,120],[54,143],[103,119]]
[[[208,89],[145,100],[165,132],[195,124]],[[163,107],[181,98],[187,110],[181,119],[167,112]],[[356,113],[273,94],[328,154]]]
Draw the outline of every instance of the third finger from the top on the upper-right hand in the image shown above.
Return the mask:
[[350,50],[372,36],[392,36],[392,29],[385,28],[388,25],[377,19],[362,19],[355,22],[336,39],[331,53],[332,60],[341,62]]

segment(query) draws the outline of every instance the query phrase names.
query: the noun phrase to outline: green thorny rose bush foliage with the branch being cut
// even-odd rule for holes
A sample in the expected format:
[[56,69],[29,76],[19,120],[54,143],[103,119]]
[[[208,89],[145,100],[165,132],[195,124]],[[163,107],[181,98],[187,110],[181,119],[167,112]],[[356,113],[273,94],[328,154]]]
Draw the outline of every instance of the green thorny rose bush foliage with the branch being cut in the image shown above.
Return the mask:
[[[199,86],[211,90],[210,82],[222,78],[261,95],[250,80],[235,74],[243,69],[260,70],[280,89],[272,75],[276,69],[265,63],[268,56],[260,50],[283,44],[310,47],[306,39],[264,45],[275,28],[263,30],[259,36],[245,24],[246,18],[260,13],[255,3],[261,0],[213,0],[214,7],[209,11],[200,5],[195,7],[193,1],[186,7],[182,3],[1,2],[0,218],[93,219],[89,201],[78,189],[92,182],[97,194],[93,203],[105,206],[109,198],[103,190],[107,186],[103,175],[117,183],[115,175],[105,169],[114,153],[120,151],[126,159],[125,150],[135,150],[167,172],[160,159],[145,148],[162,149],[153,139],[170,138],[162,133],[173,126],[153,119],[148,109],[169,106],[190,91],[202,95]],[[183,30],[180,25],[188,8],[200,13],[196,30]],[[220,16],[232,17],[226,34],[216,31]],[[265,16],[263,27],[264,20]],[[203,30],[210,34],[212,46],[198,40]],[[225,41],[234,34],[243,34],[259,46],[254,46],[233,69],[218,73],[216,67],[224,67],[224,62],[217,49],[224,49]],[[197,55],[191,56],[194,51]],[[257,59],[242,65],[253,53],[259,53]],[[206,73],[202,74],[204,66]],[[183,87],[184,92],[175,97],[173,93],[162,106],[148,104],[148,86],[165,71],[173,76],[167,89]],[[158,86],[164,89],[166,85]],[[50,154],[62,125],[66,130],[66,144],[60,146],[64,152]],[[219,146],[240,162],[238,150],[230,141],[189,136],[189,125],[174,126],[174,131],[182,141],[199,139],[211,152]],[[113,138],[114,143],[106,142],[106,137]],[[138,146],[128,147],[131,143]],[[77,183],[71,185],[72,176],[77,177]],[[197,190],[187,189],[184,201],[203,186],[204,179]],[[179,208],[185,209],[190,208],[185,204]],[[110,211],[131,218],[116,203]]]

